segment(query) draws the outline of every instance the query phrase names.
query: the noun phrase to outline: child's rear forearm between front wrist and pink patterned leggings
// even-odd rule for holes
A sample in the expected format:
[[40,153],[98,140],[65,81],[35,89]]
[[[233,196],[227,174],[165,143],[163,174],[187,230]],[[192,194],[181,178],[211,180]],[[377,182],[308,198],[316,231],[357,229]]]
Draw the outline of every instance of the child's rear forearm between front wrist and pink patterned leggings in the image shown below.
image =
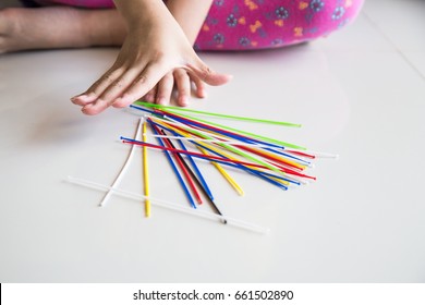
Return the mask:
[[193,45],[208,14],[212,0],[168,0],[167,8]]

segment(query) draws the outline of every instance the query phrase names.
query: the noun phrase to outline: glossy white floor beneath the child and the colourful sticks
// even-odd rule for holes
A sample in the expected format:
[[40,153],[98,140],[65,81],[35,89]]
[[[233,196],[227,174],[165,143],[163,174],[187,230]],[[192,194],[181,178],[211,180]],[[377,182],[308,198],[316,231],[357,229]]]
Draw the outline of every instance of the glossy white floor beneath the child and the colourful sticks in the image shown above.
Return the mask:
[[[234,75],[191,107],[300,122],[291,130],[229,122],[336,152],[317,182],[282,192],[232,172],[238,196],[208,164],[217,203],[256,234],[66,183],[110,184],[137,118],[84,117],[69,97],[116,49],[0,56],[0,282],[424,282],[425,1],[366,0],[359,20],[313,44],[204,53]],[[185,204],[162,154],[151,194]],[[142,192],[136,158],[121,187]],[[206,209],[206,207],[205,207]]]

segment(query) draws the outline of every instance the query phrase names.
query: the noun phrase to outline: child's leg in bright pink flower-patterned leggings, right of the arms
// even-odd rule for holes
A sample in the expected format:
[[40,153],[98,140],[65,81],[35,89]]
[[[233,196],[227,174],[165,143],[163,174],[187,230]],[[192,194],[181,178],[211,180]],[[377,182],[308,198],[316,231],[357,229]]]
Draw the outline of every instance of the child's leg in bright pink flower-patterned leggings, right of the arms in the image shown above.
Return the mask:
[[308,41],[352,22],[363,2],[364,0],[215,0],[195,48],[265,49]]

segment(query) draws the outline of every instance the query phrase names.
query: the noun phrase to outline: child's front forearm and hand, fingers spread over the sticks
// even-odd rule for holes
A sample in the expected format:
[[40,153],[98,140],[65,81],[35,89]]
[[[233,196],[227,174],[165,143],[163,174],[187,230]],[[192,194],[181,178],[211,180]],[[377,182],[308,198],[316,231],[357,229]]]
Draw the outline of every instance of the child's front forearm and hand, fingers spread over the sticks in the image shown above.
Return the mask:
[[[199,0],[182,1],[180,9],[197,14],[184,5],[193,1]],[[83,107],[84,113],[97,114],[109,106],[125,107],[145,96],[178,68],[187,71],[194,81],[198,78],[209,85],[229,81],[228,75],[212,72],[197,57],[162,1],[116,0],[116,5],[126,22],[129,34],[114,64],[84,94],[72,99]]]

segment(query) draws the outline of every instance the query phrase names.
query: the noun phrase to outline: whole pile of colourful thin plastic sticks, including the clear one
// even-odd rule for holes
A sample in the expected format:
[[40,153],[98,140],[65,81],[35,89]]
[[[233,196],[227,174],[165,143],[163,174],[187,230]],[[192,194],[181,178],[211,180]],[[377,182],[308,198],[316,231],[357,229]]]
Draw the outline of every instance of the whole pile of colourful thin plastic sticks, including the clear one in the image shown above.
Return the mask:
[[[135,102],[131,108],[136,111],[137,115],[142,114],[139,115],[142,119],[133,138],[121,136],[121,141],[132,145],[132,148],[114,182],[109,186],[84,179],[68,178],[71,183],[106,191],[107,193],[99,206],[105,206],[110,196],[114,194],[130,199],[144,200],[145,215],[147,217],[150,217],[150,203],[155,203],[163,208],[206,219],[220,220],[222,223],[264,233],[268,229],[222,215],[196,161],[201,159],[210,162],[236,193],[243,195],[242,187],[227,169],[232,168],[248,173],[280,190],[287,191],[293,186],[316,180],[316,178],[305,173],[305,170],[313,166],[312,161],[316,157],[337,157],[336,155],[311,151],[299,145],[214,123],[199,119],[199,117],[215,117],[294,127],[300,127],[300,124],[159,106],[142,101]],[[149,134],[147,133],[147,125],[151,130]],[[158,145],[148,142],[147,136],[155,138]],[[120,181],[125,174],[137,146],[143,147],[145,188],[143,195],[119,188]],[[172,171],[184,191],[190,207],[150,196],[148,148],[165,152]],[[214,212],[196,209],[197,205],[203,203],[203,198],[209,202]]]

